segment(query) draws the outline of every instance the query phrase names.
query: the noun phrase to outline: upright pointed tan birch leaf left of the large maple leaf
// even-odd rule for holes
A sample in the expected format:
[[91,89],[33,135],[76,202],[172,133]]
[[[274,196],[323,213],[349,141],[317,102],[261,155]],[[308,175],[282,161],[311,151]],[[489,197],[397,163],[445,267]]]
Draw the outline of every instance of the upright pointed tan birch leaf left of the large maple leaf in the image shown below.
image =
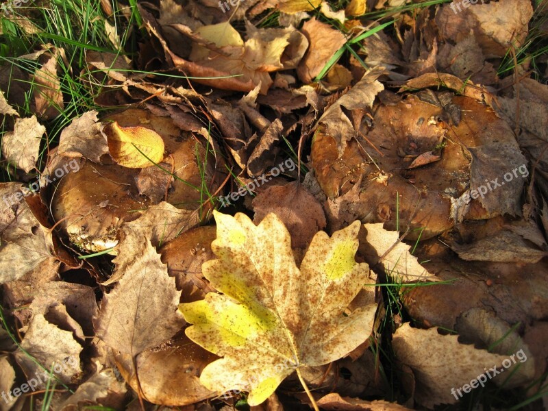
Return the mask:
[[109,347],[136,356],[171,338],[183,326],[176,307],[181,295],[166,264],[145,240],[125,275],[103,297],[95,333]]

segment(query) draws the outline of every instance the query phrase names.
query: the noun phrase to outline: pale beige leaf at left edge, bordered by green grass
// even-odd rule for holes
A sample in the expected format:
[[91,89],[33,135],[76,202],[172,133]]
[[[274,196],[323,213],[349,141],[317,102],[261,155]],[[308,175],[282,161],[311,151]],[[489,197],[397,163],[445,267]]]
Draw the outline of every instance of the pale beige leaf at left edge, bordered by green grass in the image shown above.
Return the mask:
[[2,154],[9,162],[29,173],[36,167],[40,141],[46,127],[40,125],[36,116],[16,119],[12,132],[2,136]]

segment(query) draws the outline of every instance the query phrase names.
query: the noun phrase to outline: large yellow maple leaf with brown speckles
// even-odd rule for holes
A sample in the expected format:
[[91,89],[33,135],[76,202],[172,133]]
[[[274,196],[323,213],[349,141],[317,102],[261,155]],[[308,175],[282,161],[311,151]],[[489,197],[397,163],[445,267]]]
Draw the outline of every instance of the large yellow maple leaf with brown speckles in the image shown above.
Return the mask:
[[258,226],[245,214],[214,216],[218,259],[202,271],[223,294],[179,305],[193,324],[186,335],[223,356],[203,370],[206,388],[249,391],[255,406],[293,371],[303,382],[299,367],[338,360],[369,337],[375,303],[343,314],[369,275],[369,266],[354,260],[359,221],[331,237],[318,232],[297,268],[290,235],[275,214]]

